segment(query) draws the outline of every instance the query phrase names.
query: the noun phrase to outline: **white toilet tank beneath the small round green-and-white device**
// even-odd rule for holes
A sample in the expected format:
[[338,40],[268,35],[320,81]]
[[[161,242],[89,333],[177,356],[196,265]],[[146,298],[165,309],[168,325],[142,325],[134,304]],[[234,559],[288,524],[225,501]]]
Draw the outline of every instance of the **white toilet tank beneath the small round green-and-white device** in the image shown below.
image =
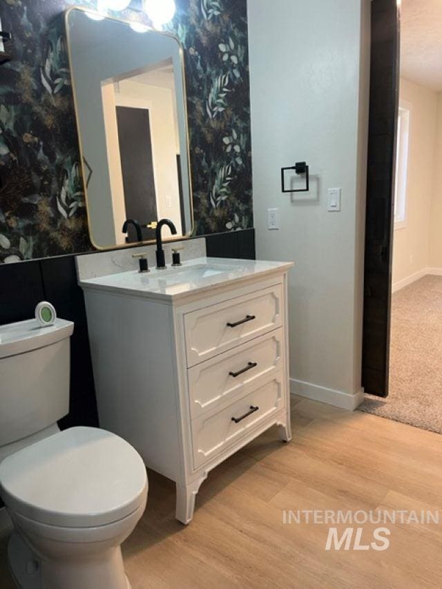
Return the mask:
[[70,336],[57,319],[0,325],[0,446],[44,429],[69,411]]

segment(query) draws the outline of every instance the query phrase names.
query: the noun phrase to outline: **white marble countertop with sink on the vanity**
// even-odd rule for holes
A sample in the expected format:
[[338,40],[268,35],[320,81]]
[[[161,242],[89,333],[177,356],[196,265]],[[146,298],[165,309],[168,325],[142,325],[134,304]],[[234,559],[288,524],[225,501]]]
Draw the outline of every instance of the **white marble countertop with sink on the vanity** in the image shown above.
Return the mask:
[[294,262],[195,258],[176,268],[152,269],[146,274],[138,271],[120,272],[79,280],[79,285],[86,290],[112,291],[171,302],[231,282],[240,283],[251,278],[266,278],[287,272],[293,265]]

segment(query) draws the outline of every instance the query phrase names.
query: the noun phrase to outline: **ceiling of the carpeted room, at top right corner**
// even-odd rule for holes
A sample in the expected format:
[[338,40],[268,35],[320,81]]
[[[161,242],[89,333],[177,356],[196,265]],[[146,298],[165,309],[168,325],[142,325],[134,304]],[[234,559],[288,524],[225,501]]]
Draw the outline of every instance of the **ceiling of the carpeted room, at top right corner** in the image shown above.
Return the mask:
[[401,76],[442,91],[442,0],[402,0]]

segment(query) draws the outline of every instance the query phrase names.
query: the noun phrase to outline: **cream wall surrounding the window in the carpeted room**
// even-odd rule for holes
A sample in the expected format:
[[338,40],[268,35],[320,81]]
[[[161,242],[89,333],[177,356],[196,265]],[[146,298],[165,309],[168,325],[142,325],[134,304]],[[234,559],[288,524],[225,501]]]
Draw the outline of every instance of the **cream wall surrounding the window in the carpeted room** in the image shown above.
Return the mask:
[[429,265],[437,113],[436,92],[405,78],[400,98],[411,105],[411,116],[405,225],[394,230],[394,290],[423,275]]

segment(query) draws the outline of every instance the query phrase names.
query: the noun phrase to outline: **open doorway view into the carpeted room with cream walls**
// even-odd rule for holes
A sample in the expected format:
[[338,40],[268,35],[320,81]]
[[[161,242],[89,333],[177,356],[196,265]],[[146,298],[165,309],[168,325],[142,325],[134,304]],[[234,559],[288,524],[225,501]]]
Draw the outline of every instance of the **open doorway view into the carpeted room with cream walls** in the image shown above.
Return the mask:
[[442,3],[400,10],[389,395],[362,409],[442,433]]

